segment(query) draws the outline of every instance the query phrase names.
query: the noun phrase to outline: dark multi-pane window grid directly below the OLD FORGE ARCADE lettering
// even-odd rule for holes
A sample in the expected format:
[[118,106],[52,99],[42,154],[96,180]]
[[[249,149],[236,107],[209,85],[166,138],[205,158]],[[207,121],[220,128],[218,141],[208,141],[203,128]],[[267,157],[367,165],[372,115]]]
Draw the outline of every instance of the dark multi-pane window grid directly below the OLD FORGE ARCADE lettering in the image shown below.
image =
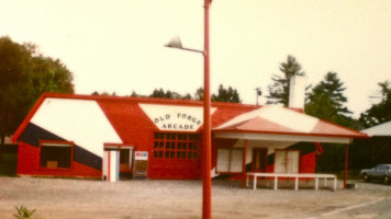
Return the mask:
[[154,158],[198,159],[199,134],[156,132]]

